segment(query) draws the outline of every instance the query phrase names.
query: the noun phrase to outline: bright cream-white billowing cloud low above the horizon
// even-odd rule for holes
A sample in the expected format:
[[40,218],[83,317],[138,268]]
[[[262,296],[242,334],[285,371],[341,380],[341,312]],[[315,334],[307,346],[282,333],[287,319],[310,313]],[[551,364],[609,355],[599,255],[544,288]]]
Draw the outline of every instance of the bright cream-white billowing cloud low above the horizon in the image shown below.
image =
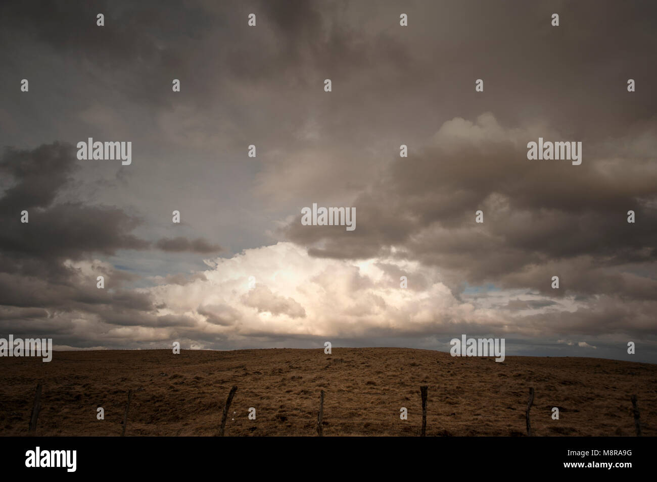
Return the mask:
[[[507,331],[509,313],[499,306],[518,296],[497,291],[494,303],[459,300],[436,268],[393,258],[313,258],[284,242],[206,264],[212,267],[203,273],[207,281],[199,277],[150,291],[156,304],[166,304],[158,315],[192,317],[198,331],[231,339],[429,336],[451,334],[461,324]],[[400,273],[408,278],[407,289],[400,287]]]

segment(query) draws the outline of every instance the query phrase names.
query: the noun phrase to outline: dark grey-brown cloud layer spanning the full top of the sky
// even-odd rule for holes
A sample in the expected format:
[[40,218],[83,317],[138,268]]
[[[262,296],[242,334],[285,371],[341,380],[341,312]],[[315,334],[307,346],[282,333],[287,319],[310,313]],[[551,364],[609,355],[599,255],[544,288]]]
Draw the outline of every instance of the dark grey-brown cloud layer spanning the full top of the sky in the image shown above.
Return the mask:
[[[7,40],[109,70],[112,89],[134,102],[170,109],[164,92],[179,78],[197,115],[221,106],[261,135],[298,127],[309,110],[321,110],[323,129],[351,142],[380,137],[377,125],[426,132],[439,119],[490,110],[503,122],[544,115],[576,136],[604,138],[634,129],[657,108],[648,89],[654,63],[645,61],[657,51],[657,7],[648,1],[22,1],[0,8]],[[399,28],[401,10],[408,28]],[[106,16],[102,28],[98,12]],[[248,12],[258,27],[246,26]],[[558,28],[552,12],[560,14]],[[16,61],[17,54],[4,56]],[[336,89],[317,96],[327,77]],[[639,87],[628,98],[630,77]],[[489,87],[475,97],[477,78]],[[244,109],[248,96],[235,81],[303,104],[276,111],[275,99],[265,101],[271,111],[260,122]],[[283,125],[267,124],[277,117]]]

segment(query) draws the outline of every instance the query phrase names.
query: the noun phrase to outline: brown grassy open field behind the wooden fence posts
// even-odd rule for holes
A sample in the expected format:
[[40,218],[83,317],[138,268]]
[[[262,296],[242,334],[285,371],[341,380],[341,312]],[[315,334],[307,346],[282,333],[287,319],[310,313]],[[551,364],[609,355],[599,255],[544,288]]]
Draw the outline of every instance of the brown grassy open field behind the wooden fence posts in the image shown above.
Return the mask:
[[[37,435],[215,435],[231,386],[226,435],[419,435],[420,385],[428,385],[427,435],[525,434],[535,388],[535,435],[657,435],[657,365],[595,358],[451,357],[407,348],[314,350],[56,351],[0,359],[0,433],[27,435],[43,383]],[[103,407],[105,420],[97,420]],[[248,409],[256,408],[256,420]],[[399,419],[407,407],[408,420]],[[559,407],[560,420],[551,419]],[[233,420],[234,419],[234,420]]]

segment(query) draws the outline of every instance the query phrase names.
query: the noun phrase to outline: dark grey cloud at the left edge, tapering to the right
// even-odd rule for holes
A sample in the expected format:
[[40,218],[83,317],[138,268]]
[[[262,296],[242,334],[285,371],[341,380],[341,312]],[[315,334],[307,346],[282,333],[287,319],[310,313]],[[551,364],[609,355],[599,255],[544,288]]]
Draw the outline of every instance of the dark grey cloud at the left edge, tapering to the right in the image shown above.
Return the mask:
[[[148,242],[131,234],[139,219],[120,209],[81,203],[54,203],[76,169],[69,144],[44,144],[35,150],[7,149],[0,172],[11,186],[0,197],[0,266],[9,273],[68,277],[63,260],[92,253],[145,249]],[[23,223],[22,211],[29,222]]]

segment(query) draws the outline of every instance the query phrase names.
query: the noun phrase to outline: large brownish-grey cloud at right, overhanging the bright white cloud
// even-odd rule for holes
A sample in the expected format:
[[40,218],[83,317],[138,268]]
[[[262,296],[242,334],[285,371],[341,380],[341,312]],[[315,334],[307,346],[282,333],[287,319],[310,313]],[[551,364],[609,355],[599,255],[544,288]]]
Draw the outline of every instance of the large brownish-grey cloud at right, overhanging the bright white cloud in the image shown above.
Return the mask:
[[[632,146],[642,133],[623,142]],[[512,135],[520,142],[506,137]],[[529,161],[532,136],[508,133],[491,115],[476,125],[452,121],[436,140],[438,146],[397,158],[353,201],[355,231],[303,226],[299,216],[288,237],[314,256],[366,258],[394,246],[397,256],[460,271],[470,283],[548,292],[551,276],[562,275],[568,291],[657,297],[656,280],[604,270],[657,261],[657,210],[642,201],[657,199],[657,171],[644,150],[628,147],[609,160],[584,144],[579,166]],[[478,209],[483,224],[474,222]],[[627,223],[630,210],[634,224]]]

